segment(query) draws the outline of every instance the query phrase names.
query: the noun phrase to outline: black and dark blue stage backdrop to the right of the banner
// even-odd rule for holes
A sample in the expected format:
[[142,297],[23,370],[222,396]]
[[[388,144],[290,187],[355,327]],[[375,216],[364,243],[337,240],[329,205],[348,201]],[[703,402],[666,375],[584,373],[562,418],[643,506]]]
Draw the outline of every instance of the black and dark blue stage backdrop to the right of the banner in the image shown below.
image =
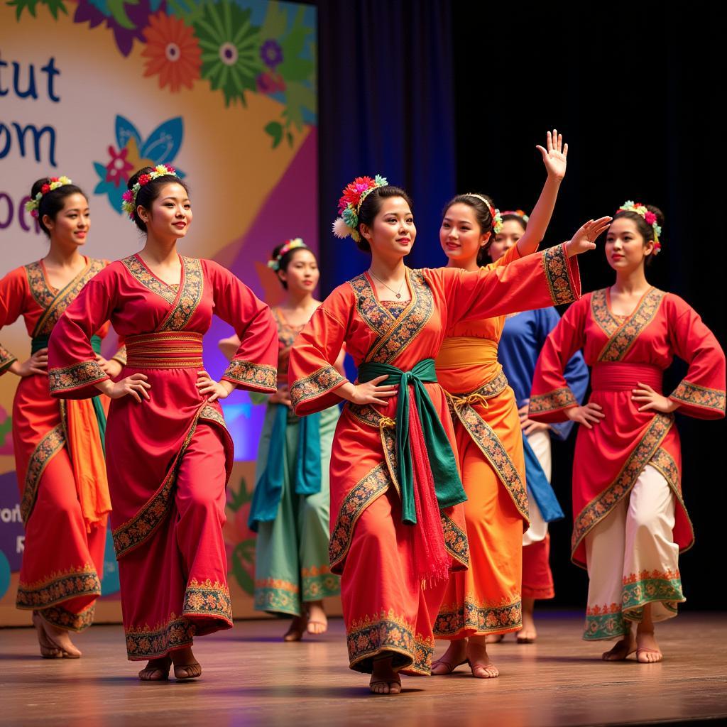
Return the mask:
[[[441,209],[456,192],[529,210],[545,179],[536,144],[556,126],[569,166],[545,245],[626,199],[660,206],[662,254],[648,270],[684,297],[723,344],[725,161],[716,6],[599,7],[434,0],[318,0],[323,292],[368,265],[329,230],[341,188],[376,173],[414,198],[412,267],[443,265]],[[580,258],[584,292],[613,281],[603,247]],[[672,367],[666,387],[683,374]],[[683,489],[696,545],[680,561],[684,608],[723,608],[713,563],[722,552],[726,425],[677,416]],[[569,562],[574,437],[555,446],[555,487],[568,520],[551,527],[560,607],[585,604]]]

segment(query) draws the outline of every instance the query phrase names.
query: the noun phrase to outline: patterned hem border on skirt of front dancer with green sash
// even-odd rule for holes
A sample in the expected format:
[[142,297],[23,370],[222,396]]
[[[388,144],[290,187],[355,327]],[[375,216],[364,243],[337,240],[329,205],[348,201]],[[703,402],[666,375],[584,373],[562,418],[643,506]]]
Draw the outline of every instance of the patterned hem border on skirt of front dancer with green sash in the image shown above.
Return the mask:
[[370,674],[374,656],[386,651],[397,671],[431,673],[434,640],[415,635],[414,624],[393,610],[356,619],[346,632],[349,666],[357,672]]

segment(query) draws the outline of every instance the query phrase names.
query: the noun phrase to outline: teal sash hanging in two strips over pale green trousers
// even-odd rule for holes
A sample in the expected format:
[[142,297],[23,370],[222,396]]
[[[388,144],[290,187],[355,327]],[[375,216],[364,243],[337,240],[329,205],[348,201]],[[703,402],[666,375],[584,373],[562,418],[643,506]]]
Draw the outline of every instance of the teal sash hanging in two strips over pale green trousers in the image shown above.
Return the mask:
[[[271,523],[278,515],[285,476],[288,411],[287,406],[277,405],[265,471],[255,483],[247,521],[249,529],[254,532],[257,532],[257,523]],[[321,414],[301,417],[298,426],[295,494],[308,497],[321,491]]]

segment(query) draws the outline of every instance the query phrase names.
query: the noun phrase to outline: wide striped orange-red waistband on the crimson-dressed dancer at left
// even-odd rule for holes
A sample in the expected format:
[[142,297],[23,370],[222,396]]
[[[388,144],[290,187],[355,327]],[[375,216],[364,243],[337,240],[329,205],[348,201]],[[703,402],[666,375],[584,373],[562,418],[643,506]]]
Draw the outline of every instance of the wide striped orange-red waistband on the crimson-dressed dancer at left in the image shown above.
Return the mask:
[[133,369],[200,369],[203,366],[201,333],[147,333],[129,336],[124,343],[126,366]]

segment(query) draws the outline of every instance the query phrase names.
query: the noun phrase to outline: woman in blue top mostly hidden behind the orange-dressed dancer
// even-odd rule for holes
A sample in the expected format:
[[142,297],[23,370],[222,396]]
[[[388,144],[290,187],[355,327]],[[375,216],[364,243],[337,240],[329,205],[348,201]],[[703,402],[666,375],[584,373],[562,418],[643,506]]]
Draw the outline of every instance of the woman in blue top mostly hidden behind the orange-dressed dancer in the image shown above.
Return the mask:
[[[495,236],[487,251],[495,262],[523,236],[528,217],[524,212],[503,212],[502,230]],[[563,517],[563,511],[550,488],[550,437],[564,440],[573,422],[545,424],[528,419],[530,387],[538,354],[545,338],[555,328],[561,316],[555,308],[525,310],[507,316],[502,328],[497,355],[502,370],[513,387],[523,433],[525,478],[528,490],[530,527],[523,534],[523,630],[518,643],[533,643],[537,638],[534,621],[536,599],[554,598],[553,573],[550,571],[550,536],[547,523]],[[588,386],[588,369],[580,351],[568,362],[566,381],[580,403]],[[490,641],[502,640],[504,634],[493,635]]]

